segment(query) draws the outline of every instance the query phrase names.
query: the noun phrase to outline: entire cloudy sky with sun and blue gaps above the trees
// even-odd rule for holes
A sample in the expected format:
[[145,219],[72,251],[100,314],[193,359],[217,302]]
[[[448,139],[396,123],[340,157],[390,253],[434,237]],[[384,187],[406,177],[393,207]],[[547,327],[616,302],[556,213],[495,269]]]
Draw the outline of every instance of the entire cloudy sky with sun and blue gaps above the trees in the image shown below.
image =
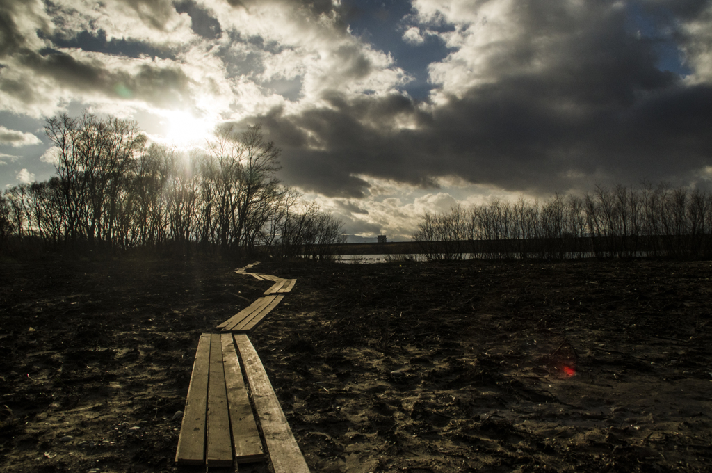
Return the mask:
[[0,189],[46,118],[262,124],[350,241],[596,185],[712,190],[712,0],[0,0]]

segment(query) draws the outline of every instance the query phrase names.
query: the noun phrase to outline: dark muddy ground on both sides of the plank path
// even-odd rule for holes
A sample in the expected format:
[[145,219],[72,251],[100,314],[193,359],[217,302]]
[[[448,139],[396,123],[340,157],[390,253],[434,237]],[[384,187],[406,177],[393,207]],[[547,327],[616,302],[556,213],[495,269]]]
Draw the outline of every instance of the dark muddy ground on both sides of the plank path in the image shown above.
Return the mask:
[[[0,471],[198,471],[174,414],[248,262],[0,261]],[[298,279],[250,338],[313,472],[712,471],[708,261],[252,270]]]

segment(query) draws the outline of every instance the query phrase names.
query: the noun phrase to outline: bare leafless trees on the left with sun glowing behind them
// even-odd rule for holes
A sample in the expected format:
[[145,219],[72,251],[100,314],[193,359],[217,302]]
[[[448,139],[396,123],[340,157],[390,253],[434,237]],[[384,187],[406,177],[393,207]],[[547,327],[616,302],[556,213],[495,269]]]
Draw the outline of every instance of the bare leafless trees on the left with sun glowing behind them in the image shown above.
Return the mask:
[[46,120],[56,175],[0,197],[0,251],[156,249],[326,258],[342,224],[276,177],[260,125],[216,129],[206,150],[148,144],[137,123]]

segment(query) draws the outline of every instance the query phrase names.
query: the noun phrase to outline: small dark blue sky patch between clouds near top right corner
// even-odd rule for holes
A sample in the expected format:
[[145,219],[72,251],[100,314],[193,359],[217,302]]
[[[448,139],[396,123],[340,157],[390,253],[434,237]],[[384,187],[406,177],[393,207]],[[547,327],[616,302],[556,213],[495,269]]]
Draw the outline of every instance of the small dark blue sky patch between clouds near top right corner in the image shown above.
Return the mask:
[[679,76],[688,76],[691,70],[684,63],[684,53],[674,41],[674,16],[671,11],[656,8],[654,14],[638,1],[627,3],[629,32],[642,38],[653,40],[658,56],[656,67],[660,71],[671,71]]

